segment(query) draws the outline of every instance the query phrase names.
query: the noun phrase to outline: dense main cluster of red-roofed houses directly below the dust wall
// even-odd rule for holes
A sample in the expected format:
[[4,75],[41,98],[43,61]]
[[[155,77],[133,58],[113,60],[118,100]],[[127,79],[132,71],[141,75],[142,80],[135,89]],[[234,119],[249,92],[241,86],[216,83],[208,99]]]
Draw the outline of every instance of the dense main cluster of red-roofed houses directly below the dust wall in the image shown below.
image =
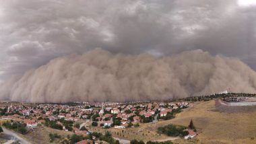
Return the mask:
[[[188,102],[137,102],[137,103],[75,103],[75,104],[23,104],[9,103],[1,107],[1,120],[26,123],[34,129],[46,120],[79,122],[80,127],[125,129],[139,127],[139,123],[158,122],[172,111],[190,106]],[[61,124],[61,122],[59,122]],[[67,131],[63,125],[63,130]],[[87,135],[73,127],[77,135]]]

